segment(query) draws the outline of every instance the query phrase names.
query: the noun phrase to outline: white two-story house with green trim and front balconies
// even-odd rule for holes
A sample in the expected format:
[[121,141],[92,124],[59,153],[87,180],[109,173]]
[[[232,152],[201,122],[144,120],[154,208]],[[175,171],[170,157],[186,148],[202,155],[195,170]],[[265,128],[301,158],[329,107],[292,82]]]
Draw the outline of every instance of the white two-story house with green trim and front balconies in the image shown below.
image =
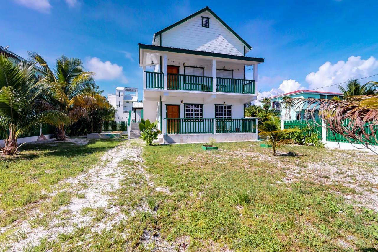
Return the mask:
[[159,142],[257,139],[257,120],[244,118],[244,104],[256,100],[264,59],[245,56],[250,50],[209,7],[153,34],[152,45],[139,44],[144,119],[158,121]]

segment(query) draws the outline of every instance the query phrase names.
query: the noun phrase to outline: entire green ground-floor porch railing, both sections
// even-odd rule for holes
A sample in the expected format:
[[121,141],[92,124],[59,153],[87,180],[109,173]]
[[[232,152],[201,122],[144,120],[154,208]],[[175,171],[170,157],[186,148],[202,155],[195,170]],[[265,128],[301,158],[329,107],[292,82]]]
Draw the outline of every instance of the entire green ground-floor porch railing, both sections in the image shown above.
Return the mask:
[[256,133],[256,119],[166,118],[167,134]]

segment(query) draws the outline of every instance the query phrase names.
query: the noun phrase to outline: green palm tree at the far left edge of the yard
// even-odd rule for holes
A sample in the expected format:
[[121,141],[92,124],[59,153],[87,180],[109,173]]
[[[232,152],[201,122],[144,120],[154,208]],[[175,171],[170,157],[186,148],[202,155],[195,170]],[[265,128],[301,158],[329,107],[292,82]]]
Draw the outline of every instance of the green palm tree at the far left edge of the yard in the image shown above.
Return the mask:
[[43,99],[47,88],[46,78],[37,79],[34,64],[15,65],[0,55],[0,131],[6,136],[5,147],[1,148],[3,154],[15,154],[20,147],[17,146],[20,134],[40,123],[58,126],[69,121],[64,113]]

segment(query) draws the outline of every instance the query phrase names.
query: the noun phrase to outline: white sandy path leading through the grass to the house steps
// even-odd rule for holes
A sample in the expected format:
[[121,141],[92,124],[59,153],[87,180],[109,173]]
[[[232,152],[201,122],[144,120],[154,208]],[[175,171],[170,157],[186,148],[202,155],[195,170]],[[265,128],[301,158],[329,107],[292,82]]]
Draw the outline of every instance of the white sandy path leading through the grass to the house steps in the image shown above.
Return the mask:
[[[119,165],[122,160],[127,159],[131,162],[143,162],[139,156],[139,154],[142,152],[141,144],[131,145],[133,142],[141,141],[125,141],[121,145],[105,152],[104,156],[101,158],[101,163],[95,168],[92,168],[86,173],[80,174],[75,178],[62,180],[60,183],[70,183],[71,188],[78,188],[80,185],[84,184],[87,185],[85,186],[84,190],[77,191],[77,194],[84,194],[85,198],[73,197],[68,205],[60,207],[59,210],[53,213],[53,216],[61,213],[68,215],[64,219],[63,226],[62,219],[57,219],[55,217],[51,219],[47,226],[33,228],[29,224],[28,220],[17,224],[15,228],[18,230],[23,230],[26,238],[6,244],[9,251],[22,251],[26,247],[30,248],[39,244],[39,241],[42,238],[47,238],[50,241],[54,240],[57,238],[59,233],[70,233],[77,227],[89,226],[91,227],[92,232],[97,232],[104,228],[111,228],[112,225],[118,222],[120,219],[127,219],[127,217],[121,213],[118,206],[110,203],[111,201],[108,193],[120,188],[120,181],[125,176],[122,169],[123,166]],[[57,191],[52,193],[51,196],[56,193]],[[47,202],[50,200],[51,198],[48,199]],[[94,223],[91,220],[92,217],[90,215],[82,214],[81,210],[84,207],[102,207],[102,209],[104,209],[106,212],[106,218]],[[35,216],[38,215],[40,215],[38,207],[34,208],[34,210],[29,213],[31,219],[36,218]],[[11,228],[14,227],[4,227],[0,229],[0,233],[3,233]],[[4,244],[0,244],[0,247],[3,245]]]

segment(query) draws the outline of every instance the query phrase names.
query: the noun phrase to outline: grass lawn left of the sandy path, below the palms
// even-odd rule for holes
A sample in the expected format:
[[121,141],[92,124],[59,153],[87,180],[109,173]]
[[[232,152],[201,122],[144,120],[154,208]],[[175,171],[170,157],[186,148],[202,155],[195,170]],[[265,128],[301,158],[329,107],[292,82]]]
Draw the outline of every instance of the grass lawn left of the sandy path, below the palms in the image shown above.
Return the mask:
[[[82,139],[82,138],[81,138]],[[73,142],[26,144],[14,157],[0,159],[0,227],[27,217],[34,203],[48,198],[60,180],[75,177],[98,163],[99,158],[120,140],[91,140],[87,145]],[[52,204],[67,202],[65,193],[53,197]]]

